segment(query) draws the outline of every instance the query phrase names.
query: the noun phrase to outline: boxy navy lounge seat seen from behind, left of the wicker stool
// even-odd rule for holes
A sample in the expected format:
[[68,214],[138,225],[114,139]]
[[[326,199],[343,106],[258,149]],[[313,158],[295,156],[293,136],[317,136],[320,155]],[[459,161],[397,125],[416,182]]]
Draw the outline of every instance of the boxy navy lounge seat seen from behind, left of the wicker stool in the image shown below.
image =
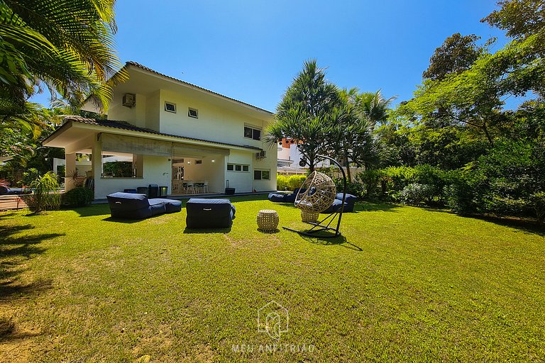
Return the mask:
[[229,199],[197,199],[187,201],[187,228],[229,228],[235,218],[235,207]]

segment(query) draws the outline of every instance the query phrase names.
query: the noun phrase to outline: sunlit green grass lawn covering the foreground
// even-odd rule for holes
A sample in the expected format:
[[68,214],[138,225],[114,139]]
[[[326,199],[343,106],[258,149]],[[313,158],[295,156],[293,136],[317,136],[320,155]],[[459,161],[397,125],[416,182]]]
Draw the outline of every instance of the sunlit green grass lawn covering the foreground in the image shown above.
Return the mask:
[[[0,361],[544,359],[544,233],[361,203],[344,238],[316,240],[256,230],[263,208],[304,226],[292,206],[232,200],[233,228],[209,233],[185,208],[0,213]],[[278,341],[258,332],[272,300],[290,315]]]

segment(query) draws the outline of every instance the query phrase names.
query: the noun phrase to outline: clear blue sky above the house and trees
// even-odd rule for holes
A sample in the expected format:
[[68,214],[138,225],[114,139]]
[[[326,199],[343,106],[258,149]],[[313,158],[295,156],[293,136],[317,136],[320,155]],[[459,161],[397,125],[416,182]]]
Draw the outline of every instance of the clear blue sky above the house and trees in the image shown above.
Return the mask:
[[270,111],[309,58],[337,86],[382,89],[397,103],[412,96],[449,35],[505,44],[500,30],[480,23],[494,9],[492,0],[119,0],[116,43],[123,62]]

